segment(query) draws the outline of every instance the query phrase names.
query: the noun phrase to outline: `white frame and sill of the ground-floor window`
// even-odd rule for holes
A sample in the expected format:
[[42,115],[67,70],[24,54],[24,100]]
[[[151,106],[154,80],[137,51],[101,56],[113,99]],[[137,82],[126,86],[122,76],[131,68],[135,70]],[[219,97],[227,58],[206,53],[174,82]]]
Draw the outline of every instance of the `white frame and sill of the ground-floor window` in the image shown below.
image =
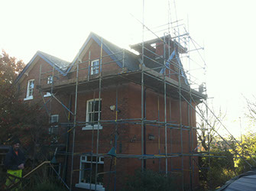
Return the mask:
[[[82,182],[82,166],[83,166],[83,163],[91,163],[91,160],[87,160],[88,157],[91,157],[91,156],[81,156],[80,157],[80,170],[79,170],[79,183],[76,183],[76,187],[78,188],[83,188],[83,189],[90,189],[90,184],[89,183],[84,183]],[[95,156],[94,156],[95,157]],[[104,157],[98,157],[98,164],[101,163],[101,164],[104,164]],[[92,161],[92,163],[96,163],[96,161]],[[105,188],[103,187],[103,185],[100,185],[100,184],[96,184],[96,189],[95,189],[95,184],[92,183],[91,184],[91,189],[92,190],[99,190],[99,191],[105,191]]]

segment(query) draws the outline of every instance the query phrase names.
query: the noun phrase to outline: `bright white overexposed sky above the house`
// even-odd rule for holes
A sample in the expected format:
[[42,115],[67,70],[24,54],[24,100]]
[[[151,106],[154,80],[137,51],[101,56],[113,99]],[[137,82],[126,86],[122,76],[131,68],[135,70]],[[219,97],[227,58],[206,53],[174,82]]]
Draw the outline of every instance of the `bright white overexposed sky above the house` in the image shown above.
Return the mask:
[[[0,49],[24,63],[37,50],[71,61],[90,31],[127,49],[142,40],[142,0],[0,0],[0,5]],[[223,124],[235,136],[248,127],[245,97],[256,95],[255,7],[254,0],[144,0],[148,28],[179,21],[204,47],[210,107],[221,108]],[[153,37],[144,32],[145,40]]]

